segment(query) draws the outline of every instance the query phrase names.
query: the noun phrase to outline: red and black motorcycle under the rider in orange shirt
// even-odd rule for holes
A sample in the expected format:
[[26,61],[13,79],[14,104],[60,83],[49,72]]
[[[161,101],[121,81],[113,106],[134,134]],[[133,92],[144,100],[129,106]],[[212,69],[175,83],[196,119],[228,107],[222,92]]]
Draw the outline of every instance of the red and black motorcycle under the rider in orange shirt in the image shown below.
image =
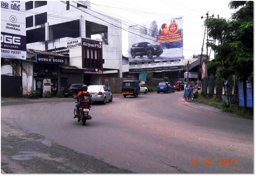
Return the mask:
[[[91,96],[89,96],[91,99]],[[77,100],[78,103],[79,100]],[[77,114],[77,121],[82,123],[82,125],[85,125],[86,120],[91,120],[92,117],[89,115],[89,111],[90,111],[90,100],[89,101],[85,101],[85,102],[81,102],[81,106],[79,107],[78,110],[78,114]],[[74,111],[75,114],[75,111]]]

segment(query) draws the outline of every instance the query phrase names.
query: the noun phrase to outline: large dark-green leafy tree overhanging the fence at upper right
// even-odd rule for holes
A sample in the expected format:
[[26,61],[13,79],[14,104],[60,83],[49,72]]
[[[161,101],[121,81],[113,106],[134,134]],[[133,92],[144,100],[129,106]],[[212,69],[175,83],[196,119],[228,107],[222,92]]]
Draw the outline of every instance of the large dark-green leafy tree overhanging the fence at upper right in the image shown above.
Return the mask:
[[209,44],[217,52],[212,66],[222,66],[217,76],[243,81],[253,78],[253,1],[231,1],[229,7],[237,10],[229,20],[209,18],[204,24],[209,37],[220,42]]

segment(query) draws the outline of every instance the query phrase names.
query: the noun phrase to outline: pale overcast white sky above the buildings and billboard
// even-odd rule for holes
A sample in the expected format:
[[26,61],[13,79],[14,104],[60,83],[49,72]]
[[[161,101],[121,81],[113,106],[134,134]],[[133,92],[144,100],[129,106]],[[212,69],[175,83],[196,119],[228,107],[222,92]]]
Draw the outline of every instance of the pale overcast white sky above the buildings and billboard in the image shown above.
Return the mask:
[[[91,9],[97,10],[121,19],[130,24],[140,24],[159,19],[171,19],[183,16],[183,54],[185,59],[193,54],[201,54],[204,36],[204,27],[201,16],[206,17],[214,14],[214,18],[229,19],[234,10],[229,9],[230,1],[166,1],[166,0],[108,0],[91,1]],[[122,28],[128,30],[126,23]],[[205,36],[206,39],[206,36]],[[208,50],[210,52],[210,49]],[[128,54],[128,32],[122,30],[122,54]],[[206,54],[206,45],[203,46],[203,54]],[[210,58],[214,58],[211,52]]]

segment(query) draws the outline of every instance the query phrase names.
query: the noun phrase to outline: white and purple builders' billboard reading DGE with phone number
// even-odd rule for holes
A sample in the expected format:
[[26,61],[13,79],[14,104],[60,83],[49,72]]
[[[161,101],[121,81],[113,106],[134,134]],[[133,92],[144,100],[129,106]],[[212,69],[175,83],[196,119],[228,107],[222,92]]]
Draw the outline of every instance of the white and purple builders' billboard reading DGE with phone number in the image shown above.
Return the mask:
[[1,1],[1,57],[3,58],[26,59],[24,9],[25,1]]

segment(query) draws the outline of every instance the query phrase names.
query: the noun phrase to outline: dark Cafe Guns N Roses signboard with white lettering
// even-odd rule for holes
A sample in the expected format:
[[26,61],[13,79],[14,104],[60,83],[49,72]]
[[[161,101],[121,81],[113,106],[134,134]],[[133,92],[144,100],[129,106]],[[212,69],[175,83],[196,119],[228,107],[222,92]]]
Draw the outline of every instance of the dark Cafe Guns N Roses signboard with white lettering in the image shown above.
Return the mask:
[[65,58],[62,56],[36,54],[36,63],[62,65],[65,64]]

